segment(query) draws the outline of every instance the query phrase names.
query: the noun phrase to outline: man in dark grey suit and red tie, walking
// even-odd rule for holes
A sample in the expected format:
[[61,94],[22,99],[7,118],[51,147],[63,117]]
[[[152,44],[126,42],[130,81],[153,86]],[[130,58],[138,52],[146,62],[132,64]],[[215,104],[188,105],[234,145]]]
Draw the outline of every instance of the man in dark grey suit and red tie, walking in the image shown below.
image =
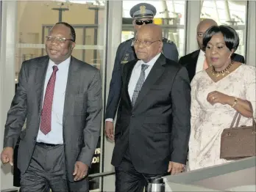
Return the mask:
[[2,163],[13,163],[20,136],[21,191],[89,191],[88,168],[99,139],[102,81],[99,70],[71,56],[76,33],[53,26],[46,52],[25,61],[7,114]]

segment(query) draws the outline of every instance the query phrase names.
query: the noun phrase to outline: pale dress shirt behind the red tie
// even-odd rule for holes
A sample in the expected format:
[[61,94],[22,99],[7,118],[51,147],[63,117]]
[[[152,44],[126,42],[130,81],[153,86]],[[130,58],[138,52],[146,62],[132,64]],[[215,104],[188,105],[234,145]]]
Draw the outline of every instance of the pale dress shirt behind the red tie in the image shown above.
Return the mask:
[[71,57],[68,57],[68,59],[65,59],[64,62],[61,62],[60,64],[54,64],[54,62],[49,59],[49,65],[46,71],[46,79],[44,82],[43,100],[46,94],[46,86],[53,72],[52,67],[54,65],[57,65],[58,67],[51,108],[51,131],[44,135],[39,128],[37,142],[43,142],[46,144],[63,144],[63,110],[70,61]]

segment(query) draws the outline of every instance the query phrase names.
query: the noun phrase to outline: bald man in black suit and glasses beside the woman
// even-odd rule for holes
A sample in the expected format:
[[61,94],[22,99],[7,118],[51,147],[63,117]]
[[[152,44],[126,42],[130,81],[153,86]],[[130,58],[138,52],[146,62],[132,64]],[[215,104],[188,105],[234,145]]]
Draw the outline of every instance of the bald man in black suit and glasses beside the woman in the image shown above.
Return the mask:
[[162,29],[142,26],[138,59],[124,65],[115,128],[115,191],[143,191],[146,180],[184,169],[191,121],[191,86],[185,67],[166,59]]

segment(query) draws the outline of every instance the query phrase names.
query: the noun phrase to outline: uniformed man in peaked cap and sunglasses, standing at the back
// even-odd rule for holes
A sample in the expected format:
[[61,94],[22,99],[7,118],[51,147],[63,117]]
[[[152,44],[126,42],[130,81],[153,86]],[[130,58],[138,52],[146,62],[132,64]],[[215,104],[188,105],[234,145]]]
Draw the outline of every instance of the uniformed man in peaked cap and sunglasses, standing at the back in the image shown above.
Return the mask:
[[[129,14],[133,18],[132,24],[134,26],[135,32],[141,28],[141,26],[153,23],[154,15],[157,10],[152,4],[136,4],[130,10]],[[137,59],[133,47],[134,38],[121,43],[118,46],[115,56],[115,64],[112,73],[112,78],[110,81],[110,91],[107,98],[107,108],[106,108],[106,124],[105,130],[106,135],[109,139],[113,140],[113,119],[115,119],[115,112],[118,108],[118,103],[121,94],[121,70],[124,64]],[[166,38],[163,38],[163,54],[171,60],[178,62],[179,53],[177,51],[176,45]]]

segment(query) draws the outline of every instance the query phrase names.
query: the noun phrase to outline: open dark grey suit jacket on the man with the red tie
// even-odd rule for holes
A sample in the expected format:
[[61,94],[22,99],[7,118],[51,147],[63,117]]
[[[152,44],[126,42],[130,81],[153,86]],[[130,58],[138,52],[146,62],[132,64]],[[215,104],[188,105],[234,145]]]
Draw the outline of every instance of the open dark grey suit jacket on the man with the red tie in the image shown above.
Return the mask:
[[[29,166],[38,136],[43,103],[43,86],[49,56],[25,61],[18,87],[7,114],[4,147],[15,147],[20,136],[18,168],[24,174]],[[102,118],[102,81],[99,70],[71,57],[63,111],[63,140],[68,179],[74,181],[77,160],[90,166],[99,139]]]

